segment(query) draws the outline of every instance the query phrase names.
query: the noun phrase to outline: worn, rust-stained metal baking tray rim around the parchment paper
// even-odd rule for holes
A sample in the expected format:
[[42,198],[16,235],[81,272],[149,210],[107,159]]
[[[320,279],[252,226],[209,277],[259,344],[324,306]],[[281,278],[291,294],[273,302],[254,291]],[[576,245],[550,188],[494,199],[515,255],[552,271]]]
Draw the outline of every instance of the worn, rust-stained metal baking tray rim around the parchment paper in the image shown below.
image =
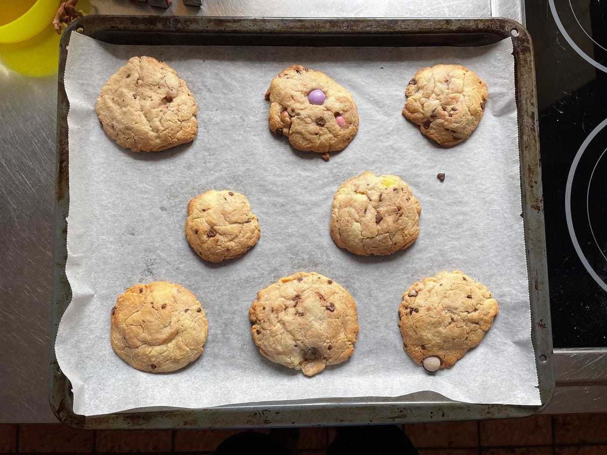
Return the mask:
[[514,45],[518,144],[524,235],[541,405],[481,405],[455,402],[432,392],[402,397],[358,397],[314,402],[205,409],[141,409],[85,417],[73,413],[71,385],[50,362],[50,405],[63,423],[77,428],[245,428],[260,426],[359,425],[431,420],[522,417],[548,405],[554,393],[552,332],[546,269],[541,161],[538,144],[535,67],[531,37],[511,19],[260,19],[158,16],[87,16],[61,39],[56,153],[55,262],[52,340],[72,298],[66,278],[66,217],[69,209],[67,101],[63,76],[70,34],[129,45],[267,46],[478,46],[501,39]]

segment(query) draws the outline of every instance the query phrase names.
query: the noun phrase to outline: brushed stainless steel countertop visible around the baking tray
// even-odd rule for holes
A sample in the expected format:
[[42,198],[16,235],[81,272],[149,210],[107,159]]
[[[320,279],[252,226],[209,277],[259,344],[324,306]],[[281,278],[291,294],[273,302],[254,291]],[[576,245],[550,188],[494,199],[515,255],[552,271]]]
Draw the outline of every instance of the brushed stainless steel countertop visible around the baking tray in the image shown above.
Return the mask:
[[[58,1],[59,3],[59,1]],[[507,17],[519,0],[231,2],[168,10],[81,0],[98,14],[266,17]],[[57,78],[30,78],[0,61],[0,422],[56,422],[48,402]],[[545,412],[607,411],[607,349],[555,352],[557,389]]]

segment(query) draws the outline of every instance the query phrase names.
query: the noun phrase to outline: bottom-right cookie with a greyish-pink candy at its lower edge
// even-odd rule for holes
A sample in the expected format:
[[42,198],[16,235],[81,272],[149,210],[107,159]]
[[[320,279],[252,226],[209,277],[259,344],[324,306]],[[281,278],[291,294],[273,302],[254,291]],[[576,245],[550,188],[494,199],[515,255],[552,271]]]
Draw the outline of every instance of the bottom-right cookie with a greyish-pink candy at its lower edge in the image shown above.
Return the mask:
[[402,346],[428,371],[449,368],[481,342],[497,313],[486,286],[460,271],[440,272],[402,294]]

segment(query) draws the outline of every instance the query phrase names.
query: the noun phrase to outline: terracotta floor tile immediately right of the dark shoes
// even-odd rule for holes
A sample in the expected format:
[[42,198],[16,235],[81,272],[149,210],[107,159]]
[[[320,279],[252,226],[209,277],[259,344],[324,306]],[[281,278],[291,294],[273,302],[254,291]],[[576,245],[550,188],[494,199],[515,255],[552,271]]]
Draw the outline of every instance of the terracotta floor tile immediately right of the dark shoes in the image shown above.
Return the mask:
[[405,434],[416,448],[476,447],[476,420],[464,422],[409,423],[403,425]]

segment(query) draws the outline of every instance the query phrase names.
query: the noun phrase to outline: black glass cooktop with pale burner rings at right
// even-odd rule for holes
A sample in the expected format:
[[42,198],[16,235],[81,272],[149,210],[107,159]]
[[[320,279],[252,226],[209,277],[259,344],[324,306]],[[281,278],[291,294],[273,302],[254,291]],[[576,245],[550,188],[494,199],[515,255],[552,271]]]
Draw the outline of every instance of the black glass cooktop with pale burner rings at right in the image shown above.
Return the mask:
[[555,348],[607,346],[607,0],[528,0]]

